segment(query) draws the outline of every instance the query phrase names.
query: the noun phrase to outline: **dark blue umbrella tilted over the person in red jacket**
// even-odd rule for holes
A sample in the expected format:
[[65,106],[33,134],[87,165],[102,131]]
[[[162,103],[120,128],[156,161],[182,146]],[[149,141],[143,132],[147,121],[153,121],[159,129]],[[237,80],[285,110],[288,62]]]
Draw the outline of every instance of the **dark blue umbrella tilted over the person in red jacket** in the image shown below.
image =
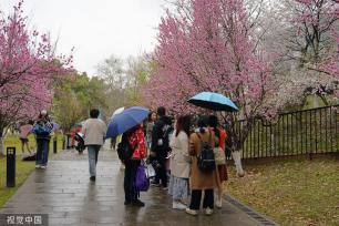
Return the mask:
[[132,106],[122,113],[114,115],[109,124],[106,137],[116,137],[127,130],[140,124],[148,116],[148,109],[142,106]]

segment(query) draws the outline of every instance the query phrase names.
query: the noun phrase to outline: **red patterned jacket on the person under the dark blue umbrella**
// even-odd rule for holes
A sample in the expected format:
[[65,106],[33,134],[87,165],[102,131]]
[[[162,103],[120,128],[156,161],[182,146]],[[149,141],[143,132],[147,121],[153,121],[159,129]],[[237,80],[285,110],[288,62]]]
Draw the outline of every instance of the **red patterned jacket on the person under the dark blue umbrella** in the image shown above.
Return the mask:
[[145,134],[144,134],[142,126],[138,126],[134,131],[134,133],[131,134],[131,136],[129,137],[129,141],[130,141],[132,148],[134,150],[132,158],[134,160],[145,158],[147,151],[146,151]]

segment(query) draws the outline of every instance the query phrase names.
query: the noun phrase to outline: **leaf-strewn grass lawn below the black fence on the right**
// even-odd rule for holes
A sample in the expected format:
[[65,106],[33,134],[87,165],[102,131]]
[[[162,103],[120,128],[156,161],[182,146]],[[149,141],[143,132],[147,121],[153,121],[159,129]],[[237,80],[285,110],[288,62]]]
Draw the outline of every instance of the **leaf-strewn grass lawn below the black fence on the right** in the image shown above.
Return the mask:
[[339,225],[339,160],[319,157],[229,167],[225,189],[281,225]]

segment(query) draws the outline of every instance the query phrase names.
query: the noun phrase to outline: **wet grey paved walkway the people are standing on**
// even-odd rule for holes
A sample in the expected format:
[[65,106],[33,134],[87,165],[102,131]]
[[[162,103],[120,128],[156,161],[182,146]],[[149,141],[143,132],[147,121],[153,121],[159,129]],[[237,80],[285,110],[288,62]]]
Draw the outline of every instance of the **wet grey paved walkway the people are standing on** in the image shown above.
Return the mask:
[[123,171],[112,151],[102,151],[95,184],[89,181],[86,152],[64,151],[37,170],[0,213],[49,214],[49,225],[254,226],[260,225],[228,202],[214,215],[191,216],[172,209],[166,191],[141,193],[145,207],[124,206]]

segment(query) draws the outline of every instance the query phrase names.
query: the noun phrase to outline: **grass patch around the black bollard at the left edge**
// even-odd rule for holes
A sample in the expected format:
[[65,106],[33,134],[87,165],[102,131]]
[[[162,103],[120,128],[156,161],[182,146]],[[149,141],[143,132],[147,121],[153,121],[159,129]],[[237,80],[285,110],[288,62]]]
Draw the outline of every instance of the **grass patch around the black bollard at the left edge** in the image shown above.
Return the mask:
[[25,178],[34,170],[34,162],[22,162],[19,156],[17,157],[16,168],[16,187],[6,187],[6,157],[0,157],[0,208],[6,202],[16,193],[16,191],[23,184]]

